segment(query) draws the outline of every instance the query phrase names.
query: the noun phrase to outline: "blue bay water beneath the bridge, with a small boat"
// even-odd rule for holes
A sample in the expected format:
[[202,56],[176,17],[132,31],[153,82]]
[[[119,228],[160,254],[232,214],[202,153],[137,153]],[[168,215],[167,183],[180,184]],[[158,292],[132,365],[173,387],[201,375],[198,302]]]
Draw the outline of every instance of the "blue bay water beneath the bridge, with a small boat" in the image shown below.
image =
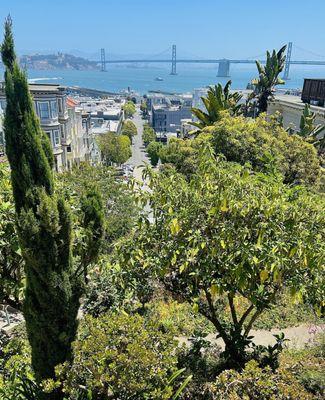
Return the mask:
[[[217,82],[232,80],[233,89],[245,89],[247,84],[257,76],[254,65],[232,65],[230,77],[217,77],[216,66],[179,65],[177,75],[170,75],[169,66],[125,67],[108,66],[106,72],[99,70],[29,70],[31,81],[40,83],[58,83],[66,86],[79,86],[90,89],[120,92],[128,87],[140,94],[150,90],[161,90],[175,93],[191,92],[194,88],[204,87]],[[324,78],[325,67],[291,66],[290,79],[280,88],[301,88],[304,78]],[[157,81],[157,78],[162,80]]]

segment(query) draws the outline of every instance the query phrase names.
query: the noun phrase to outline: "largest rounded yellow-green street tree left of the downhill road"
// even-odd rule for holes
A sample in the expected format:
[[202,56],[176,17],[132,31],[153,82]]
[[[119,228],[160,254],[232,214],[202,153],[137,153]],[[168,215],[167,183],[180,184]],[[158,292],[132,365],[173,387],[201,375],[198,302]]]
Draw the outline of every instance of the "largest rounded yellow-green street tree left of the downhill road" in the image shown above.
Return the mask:
[[132,155],[128,136],[108,132],[98,137],[98,145],[105,165],[123,164]]

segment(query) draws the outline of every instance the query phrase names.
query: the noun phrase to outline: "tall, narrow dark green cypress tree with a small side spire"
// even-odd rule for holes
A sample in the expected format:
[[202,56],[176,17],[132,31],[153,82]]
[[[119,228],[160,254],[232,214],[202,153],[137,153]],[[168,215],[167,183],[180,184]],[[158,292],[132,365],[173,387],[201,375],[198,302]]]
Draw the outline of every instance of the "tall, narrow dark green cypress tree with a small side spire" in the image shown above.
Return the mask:
[[[103,213],[98,193],[88,193],[81,207],[86,249],[74,260],[70,213],[64,200],[54,194],[53,153],[16,59],[10,17],[5,22],[1,53],[6,67],[6,153],[25,261],[24,317],[32,365],[41,382],[54,377],[57,364],[71,359],[83,289],[81,276],[98,255]],[[62,393],[58,390],[45,396],[61,399]]]

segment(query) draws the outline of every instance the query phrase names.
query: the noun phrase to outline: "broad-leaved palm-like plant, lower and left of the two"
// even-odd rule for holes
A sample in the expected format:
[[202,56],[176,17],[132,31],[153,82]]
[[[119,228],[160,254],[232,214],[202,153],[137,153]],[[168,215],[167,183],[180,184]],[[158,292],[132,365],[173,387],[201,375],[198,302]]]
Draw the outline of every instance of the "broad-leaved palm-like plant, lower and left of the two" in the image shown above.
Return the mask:
[[192,108],[192,113],[199,122],[191,122],[199,129],[213,125],[220,121],[222,111],[228,110],[231,115],[238,115],[241,106],[238,104],[242,95],[238,92],[230,92],[231,81],[228,81],[223,88],[220,83],[214,87],[209,87],[207,97],[201,97],[206,112],[199,108]]

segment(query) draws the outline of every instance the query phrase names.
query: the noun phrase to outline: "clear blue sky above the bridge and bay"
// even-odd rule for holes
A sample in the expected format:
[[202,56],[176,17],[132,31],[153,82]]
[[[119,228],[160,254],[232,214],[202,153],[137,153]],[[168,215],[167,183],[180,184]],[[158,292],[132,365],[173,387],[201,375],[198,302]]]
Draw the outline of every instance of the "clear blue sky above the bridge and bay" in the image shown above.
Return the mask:
[[8,13],[19,52],[249,57],[293,41],[325,56],[325,0],[0,0]]

